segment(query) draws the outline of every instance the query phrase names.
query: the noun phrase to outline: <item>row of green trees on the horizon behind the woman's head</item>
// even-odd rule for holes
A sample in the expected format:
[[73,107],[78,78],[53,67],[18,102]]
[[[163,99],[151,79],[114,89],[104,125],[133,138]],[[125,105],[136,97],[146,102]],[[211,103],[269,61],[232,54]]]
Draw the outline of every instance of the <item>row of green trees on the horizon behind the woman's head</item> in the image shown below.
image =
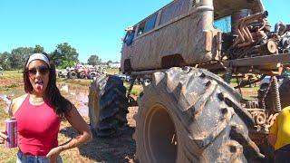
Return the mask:
[[[11,53],[0,53],[0,68],[3,70],[23,69],[24,63],[32,53],[45,52],[43,46],[36,44],[35,47],[18,47],[13,49]],[[79,62],[79,53],[69,43],[59,43],[53,52],[47,54],[59,69],[72,67],[75,63]],[[98,55],[92,54],[87,63],[98,65],[102,63],[102,59]]]

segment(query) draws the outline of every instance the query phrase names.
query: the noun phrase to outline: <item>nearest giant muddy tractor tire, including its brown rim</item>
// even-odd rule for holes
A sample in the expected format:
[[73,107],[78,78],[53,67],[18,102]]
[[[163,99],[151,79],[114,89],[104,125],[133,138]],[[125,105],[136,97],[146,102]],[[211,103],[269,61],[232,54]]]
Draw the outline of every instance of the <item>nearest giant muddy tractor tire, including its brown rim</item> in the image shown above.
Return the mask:
[[135,115],[140,162],[247,162],[263,158],[248,137],[254,126],[240,96],[217,75],[196,68],[155,72]]

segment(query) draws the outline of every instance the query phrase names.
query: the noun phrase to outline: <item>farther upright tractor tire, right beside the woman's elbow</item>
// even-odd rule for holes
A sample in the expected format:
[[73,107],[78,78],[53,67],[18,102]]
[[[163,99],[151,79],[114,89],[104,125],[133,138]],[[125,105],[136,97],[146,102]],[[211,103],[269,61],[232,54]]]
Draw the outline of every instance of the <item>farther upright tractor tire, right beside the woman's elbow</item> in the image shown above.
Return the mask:
[[123,82],[116,76],[100,76],[92,82],[89,94],[89,117],[98,137],[121,133],[127,125],[128,100]]

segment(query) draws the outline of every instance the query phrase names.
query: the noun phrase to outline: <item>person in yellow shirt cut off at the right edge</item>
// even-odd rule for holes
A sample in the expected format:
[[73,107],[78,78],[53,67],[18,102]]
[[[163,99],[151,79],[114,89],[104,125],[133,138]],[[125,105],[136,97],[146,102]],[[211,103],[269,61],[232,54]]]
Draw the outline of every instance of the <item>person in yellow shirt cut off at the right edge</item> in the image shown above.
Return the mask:
[[270,128],[268,142],[275,149],[275,162],[290,162],[290,106],[277,116]]

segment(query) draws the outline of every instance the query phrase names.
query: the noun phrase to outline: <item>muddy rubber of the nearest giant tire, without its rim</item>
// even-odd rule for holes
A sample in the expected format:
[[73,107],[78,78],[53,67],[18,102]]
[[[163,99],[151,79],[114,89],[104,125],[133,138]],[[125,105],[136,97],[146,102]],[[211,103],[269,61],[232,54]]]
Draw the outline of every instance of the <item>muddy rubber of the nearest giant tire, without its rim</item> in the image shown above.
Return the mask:
[[[140,162],[152,161],[144,154],[150,152],[144,151],[146,149],[143,148],[143,143],[146,142],[142,142],[142,135],[148,133],[143,133],[141,129],[144,129],[142,123],[146,119],[146,111],[159,102],[168,106],[171,116],[174,114],[174,120],[181,124],[176,129],[183,133],[179,135],[182,141],[188,139],[186,143],[182,143],[181,153],[185,154],[183,158],[189,160],[182,161],[251,161],[259,156],[259,149],[247,134],[247,128],[253,122],[251,115],[239,105],[241,97],[237,91],[220,77],[196,68],[170,68],[167,72],[156,72],[152,77],[152,83],[144,87],[144,94],[138,101],[140,111],[135,116],[137,126],[134,137],[137,143],[136,155]],[[242,126],[243,142],[230,135],[231,126],[235,124]],[[247,158],[248,152],[254,154]]]

